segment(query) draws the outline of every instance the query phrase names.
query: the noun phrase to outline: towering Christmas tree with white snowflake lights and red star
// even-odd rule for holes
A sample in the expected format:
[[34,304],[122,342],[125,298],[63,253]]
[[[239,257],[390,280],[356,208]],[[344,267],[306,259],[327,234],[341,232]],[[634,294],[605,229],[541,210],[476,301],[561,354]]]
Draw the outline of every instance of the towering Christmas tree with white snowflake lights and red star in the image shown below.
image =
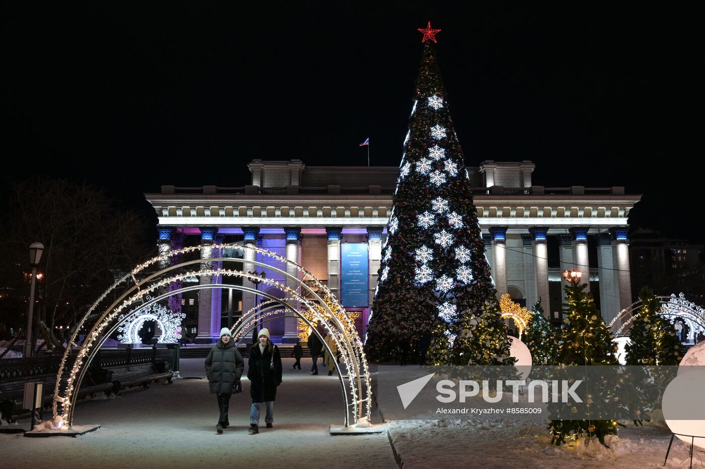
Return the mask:
[[509,341],[448,111],[430,24],[383,246],[367,353],[398,361],[429,334],[427,363],[508,363]]

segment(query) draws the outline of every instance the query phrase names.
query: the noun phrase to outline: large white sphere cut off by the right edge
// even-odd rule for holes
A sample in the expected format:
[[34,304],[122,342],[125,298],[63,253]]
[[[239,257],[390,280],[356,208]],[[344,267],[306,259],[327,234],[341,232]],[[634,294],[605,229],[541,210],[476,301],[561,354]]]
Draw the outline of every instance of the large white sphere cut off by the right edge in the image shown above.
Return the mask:
[[[682,373],[663,392],[663,420],[687,444],[705,449],[705,372],[698,368]],[[687,436],[689,435],[689,436]],[[696,437],[694,440],[692,437]]]

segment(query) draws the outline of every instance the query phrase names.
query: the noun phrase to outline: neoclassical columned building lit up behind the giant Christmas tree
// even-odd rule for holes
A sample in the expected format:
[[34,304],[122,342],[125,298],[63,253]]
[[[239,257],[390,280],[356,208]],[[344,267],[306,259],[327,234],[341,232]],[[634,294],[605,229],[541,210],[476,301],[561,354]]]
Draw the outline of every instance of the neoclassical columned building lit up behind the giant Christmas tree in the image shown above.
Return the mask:
[[[253,160],[247,168],[252,180],[245,187],[162,186],[159,194],[145,194],[159,216],[159,249],[214,242],[262,246],[327,284],[343,306],[360,313],[364,334],[398,168],[307,166],[300,160]],[[531,161],[467,168],[498,293],[529,307],[540,298],[546,315],[560,320],[561,273],[581,270],[609,322],[632,304],[627,215],[641,196],[625,194],[624,187],[535,186],[534,169]],[[245,271],[256,270],[249,267]],[[274,271],[266,275],[284,282]],[[267,292],[281,298],[276,288]],[[223,284],[172,303],[187,313],[197,342],[207,343],[256,299]],[[268,326],[275,341],[298,340],[293,318]]]

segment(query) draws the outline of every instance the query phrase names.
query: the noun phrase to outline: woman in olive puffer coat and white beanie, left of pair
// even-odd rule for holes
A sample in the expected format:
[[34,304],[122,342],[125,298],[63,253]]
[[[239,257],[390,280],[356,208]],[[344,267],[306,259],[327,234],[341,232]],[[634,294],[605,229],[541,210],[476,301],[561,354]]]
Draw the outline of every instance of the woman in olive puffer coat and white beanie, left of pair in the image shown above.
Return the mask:
[[230,330],[221,329],[221,338],[216,342],[206,358],[206,376],[212,394],[218,397],[220,418],[216,431],[223,432],[223,428],[230,425],[228,422],[228,405],[233,395],[233,386],[240,380],[245,370],[245,361],[240,355],[238,347],[233,342]]

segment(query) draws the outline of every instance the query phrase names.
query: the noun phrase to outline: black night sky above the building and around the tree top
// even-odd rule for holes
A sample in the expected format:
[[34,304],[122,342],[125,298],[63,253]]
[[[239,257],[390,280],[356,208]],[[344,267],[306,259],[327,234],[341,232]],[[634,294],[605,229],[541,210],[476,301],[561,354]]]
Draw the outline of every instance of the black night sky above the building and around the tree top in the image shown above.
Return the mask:
[[[632,223],[704,243],[701,11],[442,1],[5,5],[5,170],[105,187],[239,186],[253,158],[398,165],[431,26],[467,165],[625,186]],[[648,2],[647,2],[648,3]]]

